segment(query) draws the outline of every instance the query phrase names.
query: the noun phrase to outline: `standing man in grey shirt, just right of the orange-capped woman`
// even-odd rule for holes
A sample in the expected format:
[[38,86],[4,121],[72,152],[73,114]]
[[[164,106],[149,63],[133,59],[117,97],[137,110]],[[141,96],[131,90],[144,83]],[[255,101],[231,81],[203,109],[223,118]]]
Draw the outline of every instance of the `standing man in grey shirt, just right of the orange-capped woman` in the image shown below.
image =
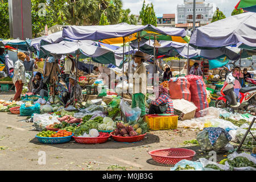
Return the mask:
[[24,52],[26,55],[26,59],[24,60],[25,71],[31,76],[30,82],[28,82],[28,92],[32,90],[32,80],[34,79],[34,68],[38,69],[38,65],[36,64],[36,60],[30,58],[30,52]]

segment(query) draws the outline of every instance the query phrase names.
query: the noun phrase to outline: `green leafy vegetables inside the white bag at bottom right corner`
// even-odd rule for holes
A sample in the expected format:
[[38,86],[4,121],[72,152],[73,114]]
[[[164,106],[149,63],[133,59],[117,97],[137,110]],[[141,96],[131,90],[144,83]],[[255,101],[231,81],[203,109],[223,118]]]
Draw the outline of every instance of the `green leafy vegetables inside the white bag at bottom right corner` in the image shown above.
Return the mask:
[[253,167],[256,168],[256,164],[251,162],[250,160],[248,160],[245,157],[242,156],[238,156],[236,158],[234,158],[233,160],[228,159],[227,160],[228,164],[229,164],[229,168],[230,170],[233,170],[234,167]]

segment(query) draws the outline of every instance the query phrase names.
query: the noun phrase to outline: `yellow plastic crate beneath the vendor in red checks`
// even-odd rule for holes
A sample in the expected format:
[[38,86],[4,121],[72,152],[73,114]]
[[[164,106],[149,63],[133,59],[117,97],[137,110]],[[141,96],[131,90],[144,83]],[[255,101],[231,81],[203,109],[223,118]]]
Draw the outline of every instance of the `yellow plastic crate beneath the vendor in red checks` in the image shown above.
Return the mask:
[[160,116],[157,114],[146,115],[146,122],[151,130],[177,129],[177,119],[179,116]]

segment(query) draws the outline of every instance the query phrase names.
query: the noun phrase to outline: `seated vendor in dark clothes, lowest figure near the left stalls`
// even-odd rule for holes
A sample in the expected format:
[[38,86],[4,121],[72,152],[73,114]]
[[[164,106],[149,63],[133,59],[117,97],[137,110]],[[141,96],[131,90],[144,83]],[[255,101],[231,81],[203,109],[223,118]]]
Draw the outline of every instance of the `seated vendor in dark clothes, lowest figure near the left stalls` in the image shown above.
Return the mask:
[[32,84],[32,93],[34,93],[35,95],[39,94],[42,98],[48,97],[47,85],[43,82],[42,73],[36,73],[35,77],[32,80]]

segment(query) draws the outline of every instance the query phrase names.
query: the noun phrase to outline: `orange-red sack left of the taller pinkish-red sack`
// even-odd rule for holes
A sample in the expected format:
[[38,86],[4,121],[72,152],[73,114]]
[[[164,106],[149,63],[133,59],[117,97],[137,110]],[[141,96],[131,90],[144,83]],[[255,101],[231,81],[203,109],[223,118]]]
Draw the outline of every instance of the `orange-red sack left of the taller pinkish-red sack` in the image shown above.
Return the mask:
[[189,82],[185,77],[170,78],[169,93],[172,99],[181,99],[191,101],[191,92]]

